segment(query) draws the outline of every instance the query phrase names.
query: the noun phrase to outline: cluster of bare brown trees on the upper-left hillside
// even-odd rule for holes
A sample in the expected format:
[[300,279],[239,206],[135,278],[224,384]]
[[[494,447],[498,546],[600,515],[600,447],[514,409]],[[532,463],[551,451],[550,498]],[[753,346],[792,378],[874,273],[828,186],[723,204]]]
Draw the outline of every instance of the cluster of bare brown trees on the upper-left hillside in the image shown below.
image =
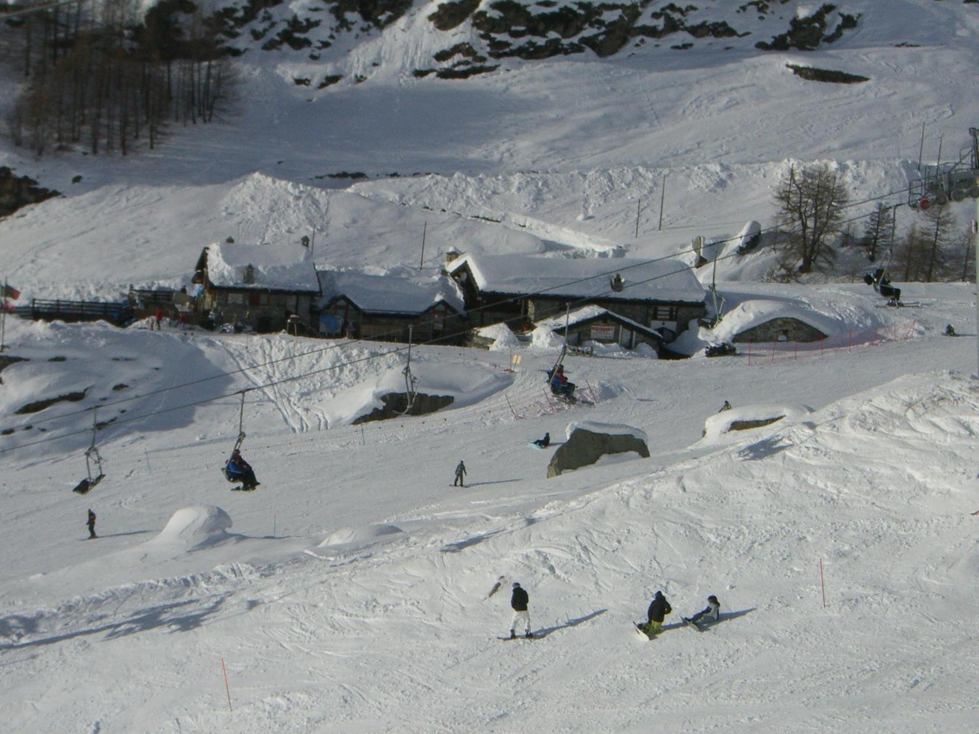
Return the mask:
[[191,0],[9,5],[0,63],[23,77],[5,120],[41,156],[156,147],[167,124],[210,122],[232,101],[233,69],[213,17]]

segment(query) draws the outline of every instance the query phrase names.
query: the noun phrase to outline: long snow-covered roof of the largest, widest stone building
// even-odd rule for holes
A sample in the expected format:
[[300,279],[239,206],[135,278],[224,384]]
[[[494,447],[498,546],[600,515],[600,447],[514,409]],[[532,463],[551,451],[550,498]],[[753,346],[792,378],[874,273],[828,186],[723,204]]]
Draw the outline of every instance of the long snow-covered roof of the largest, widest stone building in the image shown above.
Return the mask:
[[[699,303],[705,293],[693,270],[676,259],[469,253],[448,263],[447,269],[454,274],[467,265],[479,289],[489,293],[684,303]],[[612,290],[617,273],[623,279],[622,291]]]

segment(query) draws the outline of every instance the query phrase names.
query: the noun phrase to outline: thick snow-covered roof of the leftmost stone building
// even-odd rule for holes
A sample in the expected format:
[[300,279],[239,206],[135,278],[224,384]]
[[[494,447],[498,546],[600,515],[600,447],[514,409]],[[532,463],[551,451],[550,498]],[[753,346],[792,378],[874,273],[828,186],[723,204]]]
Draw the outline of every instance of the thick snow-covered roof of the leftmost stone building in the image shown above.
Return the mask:
[[[301,245],[215,243],[207,251],[208,280],[216,288],[319,293],[312,258]],[[245,282],[249,265],[255,273],[253,283]]]

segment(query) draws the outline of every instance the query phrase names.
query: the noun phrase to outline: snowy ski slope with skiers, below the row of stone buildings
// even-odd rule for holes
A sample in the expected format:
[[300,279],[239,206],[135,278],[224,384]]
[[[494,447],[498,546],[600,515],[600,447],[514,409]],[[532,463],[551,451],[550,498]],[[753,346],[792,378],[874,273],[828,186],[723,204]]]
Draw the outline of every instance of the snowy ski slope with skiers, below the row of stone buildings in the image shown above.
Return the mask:
[[[974,334],[974,297],[967,286],[920,288],[933,304],[880,309],[853,287],[851,308],[878,321],[880,339],[821,355],[779,351],[750,365],[743,351],[570,356],[593,408],[548,401],[541,371],[553,351],[535,347],[523,347],[516,373],[502,371],[507,350],[413,350],[433,383],[470,376],[454,384],[473,399],[363,426],[307,416],[331,390],[369,394],[402,357],[255,390],[245,413],[254,493],[230,492],[218,471],[237,433],[235,397],[100,432],[107,477],[84,497],[70,492],[83,433],[5,453],[8,730],[968,731],[979,392],[974,338],[941,332],[952,322]],[[795,290],[799,303],[820,290],[846,296],[840,286],[752,290]],[[187,354],[216,372],[246,354],[324,344],[106,327],[100,346],[99,327],[11,323],[11,353],[37,363],[111,354],[120,343],[109,335],[145,343],[134,362],[68,371],[96,388],[52,415],[97,404],[101,386],[147,366],[184,381]],[[310,359],[283,364],[300,374]],[[2,373],[5,395],[29,380],[28,364]],[[486,379],[472,376],[484,374],[501,388],[478,387]],[[106,412],[165,410],[268,377]],[[724,399],[745,415],[773,402],[806,409],[701,438]],[[5,425],[15,403],[4,404]],[[153,430],[164,416],[166,430]],[[48,436],[83,431],[89,417],[51,421]],[[643,431],[651,458],[546,480],[549,451],[527,442],[582,421]],[[26,436],[46,437],[34,428],[8,440]],[[462,489],[450,486],[459,459]],[[98,540],[83,539],[89,507]],[[542,639],[495,639],[508,633],[512,580],[529,590]],[[657,588],[676,611],[645,642],[631,622]],[[698,634],[679,617],[711,593],[725,618]]]

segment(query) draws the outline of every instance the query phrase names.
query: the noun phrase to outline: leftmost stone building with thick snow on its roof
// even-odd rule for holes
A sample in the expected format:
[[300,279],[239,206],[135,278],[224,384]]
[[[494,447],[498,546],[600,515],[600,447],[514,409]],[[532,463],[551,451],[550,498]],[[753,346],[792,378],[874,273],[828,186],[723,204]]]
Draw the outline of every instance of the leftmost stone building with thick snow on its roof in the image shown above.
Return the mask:
[[201,252],[194,282],[201,320],[241,323],[257,332],[280,331],[290,316],[310,326],[319,281],[309,251],[299,243],[215,243]]

